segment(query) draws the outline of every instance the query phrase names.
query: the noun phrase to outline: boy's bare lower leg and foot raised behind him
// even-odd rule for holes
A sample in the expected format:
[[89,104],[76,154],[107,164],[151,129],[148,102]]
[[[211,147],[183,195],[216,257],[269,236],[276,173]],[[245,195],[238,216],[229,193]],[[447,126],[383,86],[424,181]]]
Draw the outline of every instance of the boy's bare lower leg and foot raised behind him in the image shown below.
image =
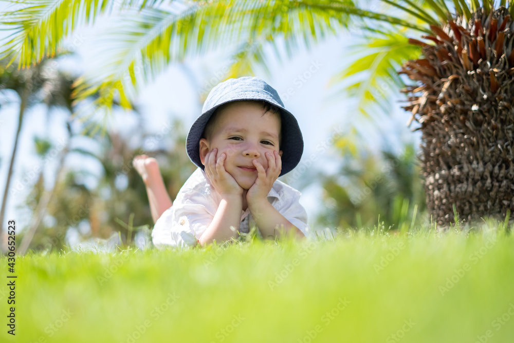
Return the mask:
[[164,181],[159,171],[159,165],[155,158],[146,155],[134,157],[132,164],[143,178],[144,185],[146,186],[146,194],[148,194],[148,201],[150,203],[150,211],[152,212],[152,218],[155,223],[161,214],[173,205],[164,186]]

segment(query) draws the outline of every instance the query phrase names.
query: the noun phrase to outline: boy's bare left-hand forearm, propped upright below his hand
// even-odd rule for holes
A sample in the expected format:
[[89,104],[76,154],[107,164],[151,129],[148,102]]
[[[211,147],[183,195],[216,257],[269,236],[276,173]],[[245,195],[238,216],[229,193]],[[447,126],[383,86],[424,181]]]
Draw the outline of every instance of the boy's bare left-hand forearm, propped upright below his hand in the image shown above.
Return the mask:
[[[216,214],[209,227],[201,234],[198,243],[201,246],[217,242],[224,242],[237,236],[237,230],[241,224],[241,212],[243,211],[243,199],[241,195],[224,194],[219,203]],[[233,232],[230,226],[236,228]]]

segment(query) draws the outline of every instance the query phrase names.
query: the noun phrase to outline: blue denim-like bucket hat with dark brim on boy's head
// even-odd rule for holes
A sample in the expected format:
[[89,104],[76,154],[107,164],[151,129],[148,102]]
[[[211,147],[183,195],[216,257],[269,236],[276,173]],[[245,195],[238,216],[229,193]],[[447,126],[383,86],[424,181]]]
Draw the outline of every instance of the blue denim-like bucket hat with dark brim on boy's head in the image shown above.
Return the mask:
[[205,125],[216,109],[226,103],[239,100],[263,100],[280,109],[282,121],[282,171],[279,176],[295,168],[303,153],[303,137],[298,121],[284,108],[284,103],[277,91],[259,77],[241,77],[228,79],[211,89],[201,115],[196,118],[189,130],[186,141],[186,150],[191,161],[202,170],[205,166],[200,160],[200,139],[203,136]]

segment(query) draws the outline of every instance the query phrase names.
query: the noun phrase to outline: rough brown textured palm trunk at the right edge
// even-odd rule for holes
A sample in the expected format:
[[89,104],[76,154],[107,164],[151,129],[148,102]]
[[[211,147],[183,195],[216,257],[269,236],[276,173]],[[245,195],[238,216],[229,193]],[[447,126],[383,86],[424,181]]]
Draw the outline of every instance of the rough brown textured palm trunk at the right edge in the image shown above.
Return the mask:
[[417,81],[404,108],[421,123],[427,207],[439,225],[505,218],[514,209],[514,25],[504,7],[462,17],[425,36],[424,59],[400,73]]

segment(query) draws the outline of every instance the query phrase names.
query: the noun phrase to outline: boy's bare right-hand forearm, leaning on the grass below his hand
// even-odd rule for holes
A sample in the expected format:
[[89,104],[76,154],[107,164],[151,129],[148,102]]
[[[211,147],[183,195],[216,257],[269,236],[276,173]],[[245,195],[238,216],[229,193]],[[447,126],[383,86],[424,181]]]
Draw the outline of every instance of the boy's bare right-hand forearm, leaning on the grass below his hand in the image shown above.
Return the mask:
[[[288,234],[292,234],[295,237],[305,237],[300,229],[285,219],[267,200],[254,203],[251,206],[248,204],[248,208],[264,239],[269,236],[273,238],[274,236],[286,236]],[[283,231],[282,225],[284,225]]]

